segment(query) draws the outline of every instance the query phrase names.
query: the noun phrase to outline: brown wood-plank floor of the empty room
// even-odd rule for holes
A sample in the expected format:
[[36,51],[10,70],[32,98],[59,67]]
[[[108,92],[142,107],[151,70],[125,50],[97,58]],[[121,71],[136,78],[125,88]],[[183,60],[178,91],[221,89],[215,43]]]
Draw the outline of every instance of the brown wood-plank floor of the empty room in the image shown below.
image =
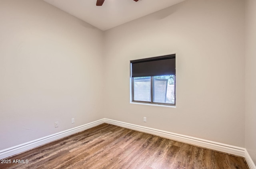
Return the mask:
[[249,169],[243,157],[110,124],[5,160],[11,163],[0,163],[0,169]]

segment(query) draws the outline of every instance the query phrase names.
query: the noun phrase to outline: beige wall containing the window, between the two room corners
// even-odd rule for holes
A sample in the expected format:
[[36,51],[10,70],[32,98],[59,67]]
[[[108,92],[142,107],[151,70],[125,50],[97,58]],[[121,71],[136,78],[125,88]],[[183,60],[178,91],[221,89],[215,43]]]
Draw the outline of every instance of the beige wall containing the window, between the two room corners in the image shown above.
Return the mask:
[[[244,147],[244,9],[186,0],[106,31],[104,117]],[[131,104],[130,60],[173,53],[176,108]]]

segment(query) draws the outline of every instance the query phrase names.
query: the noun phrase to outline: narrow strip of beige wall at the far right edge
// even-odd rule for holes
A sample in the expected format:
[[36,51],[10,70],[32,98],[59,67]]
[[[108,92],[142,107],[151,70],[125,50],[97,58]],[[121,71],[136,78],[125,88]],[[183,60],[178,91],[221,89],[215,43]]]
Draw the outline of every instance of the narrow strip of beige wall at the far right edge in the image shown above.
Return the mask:
[[246,0],[245,147],[256,164],[256,1]]

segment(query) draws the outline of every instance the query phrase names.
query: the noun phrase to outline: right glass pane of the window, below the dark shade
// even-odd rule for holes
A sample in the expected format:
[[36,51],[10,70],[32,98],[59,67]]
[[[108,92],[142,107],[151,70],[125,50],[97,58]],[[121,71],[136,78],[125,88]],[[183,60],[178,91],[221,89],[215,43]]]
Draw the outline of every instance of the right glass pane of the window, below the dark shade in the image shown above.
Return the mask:
[[175,75],[154,76],[153,102],[175,103]]

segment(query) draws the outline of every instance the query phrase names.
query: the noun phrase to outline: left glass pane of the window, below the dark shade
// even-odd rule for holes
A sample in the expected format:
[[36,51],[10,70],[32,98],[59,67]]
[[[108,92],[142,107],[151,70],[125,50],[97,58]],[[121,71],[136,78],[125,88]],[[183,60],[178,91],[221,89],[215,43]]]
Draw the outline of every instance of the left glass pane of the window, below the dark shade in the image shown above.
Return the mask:
[[150,77],[134,77],[134,100],[150,102]]

